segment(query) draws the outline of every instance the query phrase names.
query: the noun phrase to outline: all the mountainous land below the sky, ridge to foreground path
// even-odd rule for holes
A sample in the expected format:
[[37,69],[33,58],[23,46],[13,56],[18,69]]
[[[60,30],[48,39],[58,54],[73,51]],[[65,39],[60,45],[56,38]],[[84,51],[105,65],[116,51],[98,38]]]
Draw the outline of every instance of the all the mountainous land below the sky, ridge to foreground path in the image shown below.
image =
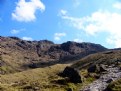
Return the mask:
[[121,49],[0,36],[0,91],[121,91]]

